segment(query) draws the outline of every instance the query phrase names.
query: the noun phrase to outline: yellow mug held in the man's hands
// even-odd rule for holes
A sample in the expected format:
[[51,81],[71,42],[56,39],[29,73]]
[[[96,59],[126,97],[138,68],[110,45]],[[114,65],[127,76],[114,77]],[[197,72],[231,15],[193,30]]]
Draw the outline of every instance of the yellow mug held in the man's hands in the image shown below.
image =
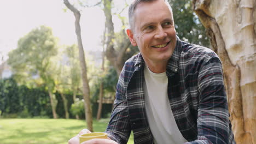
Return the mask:
[[108,134],[95,132],[95,133],[88,133],[88,134],[83,134],[79,136],[80,143],[91,140],[91,139],[108,139]]

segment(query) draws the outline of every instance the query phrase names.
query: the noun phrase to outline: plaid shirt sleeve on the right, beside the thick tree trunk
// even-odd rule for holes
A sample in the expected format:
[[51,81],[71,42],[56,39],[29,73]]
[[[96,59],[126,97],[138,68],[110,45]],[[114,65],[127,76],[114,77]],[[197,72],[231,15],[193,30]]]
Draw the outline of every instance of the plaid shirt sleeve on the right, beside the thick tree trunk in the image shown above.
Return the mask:
[[222,64],[217,56],[202,62],[198,74],[198,91],[197,140],[186,143],[230,143],[233,135]]

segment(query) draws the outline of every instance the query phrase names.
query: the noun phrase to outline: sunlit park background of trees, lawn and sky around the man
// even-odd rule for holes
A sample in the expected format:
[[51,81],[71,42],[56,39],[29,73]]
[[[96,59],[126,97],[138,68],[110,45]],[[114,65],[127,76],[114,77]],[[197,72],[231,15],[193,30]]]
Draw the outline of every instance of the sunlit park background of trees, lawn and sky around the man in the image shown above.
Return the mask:
[[[237,143],[256,143],[256,2],[169,2],[178,37],[223,63]],[[1,2],[0,143],[67,143],[106,129],[120,70],[138,52],[125,34],[130,3]]]

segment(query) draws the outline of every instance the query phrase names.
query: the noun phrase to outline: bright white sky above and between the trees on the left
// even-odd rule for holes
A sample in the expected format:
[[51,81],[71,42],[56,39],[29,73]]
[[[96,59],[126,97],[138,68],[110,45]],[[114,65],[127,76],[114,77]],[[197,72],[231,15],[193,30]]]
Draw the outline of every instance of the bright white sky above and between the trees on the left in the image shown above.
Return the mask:
[[[95,0],[91,1],[95,2]],[[120,9],[124,7],[123,2],[114,0],[115,5]],[[59,38],[60,44],[76,44],[74,15],[70,10],[65,12],[63,10],[65,8],[62,0],[1,0],[0,55],[2,53],[7,59],[8,52],[16,49],[18,40],[41,25],[51,27],[53,35]],[[123,15],[127,16],[127,10],[124,10]],[[104,20],[104,13],[100,7],[82,9],[80,26],[85,51],[102,49],[100,41]],[[121,22],[117,16],[113,16],[113,22],[115,31],[118,31]]]

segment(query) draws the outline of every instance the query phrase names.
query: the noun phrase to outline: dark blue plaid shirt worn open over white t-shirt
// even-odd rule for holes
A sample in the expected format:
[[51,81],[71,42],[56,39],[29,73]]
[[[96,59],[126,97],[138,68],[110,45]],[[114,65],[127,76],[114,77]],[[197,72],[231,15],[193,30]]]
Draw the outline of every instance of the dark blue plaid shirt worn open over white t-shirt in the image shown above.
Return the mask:
[[[138,53],[126,61],[117,83],[106,133],[120,144],[127,143],[131,130],[135,143],[154,143],[146,117],[143,69]],[[216,53],[177,38],[166,75],[171,110],[187,143],[235,143]]]

